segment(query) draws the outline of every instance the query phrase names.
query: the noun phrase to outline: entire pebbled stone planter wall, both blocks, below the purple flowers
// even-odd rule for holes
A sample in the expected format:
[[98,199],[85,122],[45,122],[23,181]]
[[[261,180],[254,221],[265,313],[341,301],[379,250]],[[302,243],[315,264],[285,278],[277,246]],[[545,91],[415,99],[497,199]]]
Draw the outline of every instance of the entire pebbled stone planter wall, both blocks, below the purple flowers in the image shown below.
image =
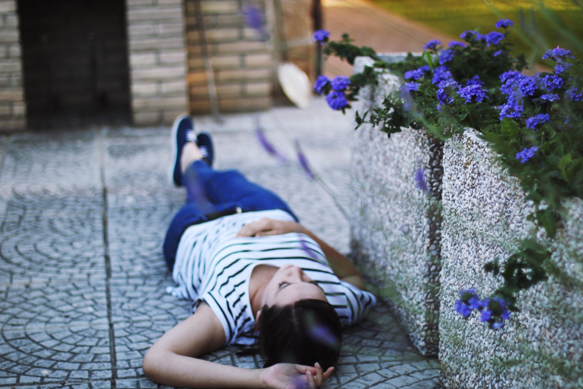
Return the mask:
[[[354,70],[371,63],[360,58]],[[400,82],[380,81],[361,91],[354,110],[380,106]],[[444,386],[583,388],[583,201],[565,202],[563,226],[550,240],[526,221],[533,208],[518,179],[471,130],[443,144],[412,129],[388,139],[363,125],[352,152],[354,260],[417,348],[439,349]],[[420,167],[431,196],[416,186]],[[505,260],[531,236],[550,247],[558,272],[518,296],[521,313],[498,331],[476,313],[469,320],[456,313],[460,290],[486,297],[503,282],[484,263]]]

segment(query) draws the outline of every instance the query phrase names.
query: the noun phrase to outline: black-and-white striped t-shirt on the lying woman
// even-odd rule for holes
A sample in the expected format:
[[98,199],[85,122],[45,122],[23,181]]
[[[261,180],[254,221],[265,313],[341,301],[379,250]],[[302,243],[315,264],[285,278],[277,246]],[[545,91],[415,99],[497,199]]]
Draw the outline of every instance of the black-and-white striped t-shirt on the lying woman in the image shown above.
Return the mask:
[[257,339],[251,311],[249,280],[259,264],[294,264],[324,289],[343,325],[358,323],[375,297],[340,281],[311,237],[301,233],[264,237],[236,237],[241,227],[261,218],[294,219],[285,211],[244,212],[188,227],[176,253],[174,296],[192,300],[192,312],[205,301],[223,325],[226,344],[251,345]]

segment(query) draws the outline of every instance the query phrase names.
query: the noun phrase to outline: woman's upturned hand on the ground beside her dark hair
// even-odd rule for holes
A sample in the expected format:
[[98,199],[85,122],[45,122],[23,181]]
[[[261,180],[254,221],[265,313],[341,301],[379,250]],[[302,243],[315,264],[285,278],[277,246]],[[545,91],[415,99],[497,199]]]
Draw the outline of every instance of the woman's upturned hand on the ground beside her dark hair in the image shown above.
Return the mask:
[[319,363],[314,367],[278,363],[264,369],[262,383],[264,387],[273,389],[316,389],[333,371],[334,368],[329,367],[324,372]]

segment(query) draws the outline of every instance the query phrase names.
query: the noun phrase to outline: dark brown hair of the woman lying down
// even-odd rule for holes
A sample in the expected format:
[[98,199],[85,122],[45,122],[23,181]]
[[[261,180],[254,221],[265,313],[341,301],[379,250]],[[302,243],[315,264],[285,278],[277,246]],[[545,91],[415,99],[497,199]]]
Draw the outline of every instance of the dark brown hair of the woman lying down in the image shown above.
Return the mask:
[[259,352],[265,366],[298,363],[326,371],[340,356],[342,325],[336,310],[322,300],[264,306],[259,315]]

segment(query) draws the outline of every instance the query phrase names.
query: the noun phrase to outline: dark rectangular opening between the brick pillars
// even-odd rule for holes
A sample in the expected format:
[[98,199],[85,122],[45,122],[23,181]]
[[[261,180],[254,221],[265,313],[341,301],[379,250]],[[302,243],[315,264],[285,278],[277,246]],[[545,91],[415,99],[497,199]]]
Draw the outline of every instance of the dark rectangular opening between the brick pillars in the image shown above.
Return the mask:
[[128,124],[124,0],[19,0],[30,128]]

